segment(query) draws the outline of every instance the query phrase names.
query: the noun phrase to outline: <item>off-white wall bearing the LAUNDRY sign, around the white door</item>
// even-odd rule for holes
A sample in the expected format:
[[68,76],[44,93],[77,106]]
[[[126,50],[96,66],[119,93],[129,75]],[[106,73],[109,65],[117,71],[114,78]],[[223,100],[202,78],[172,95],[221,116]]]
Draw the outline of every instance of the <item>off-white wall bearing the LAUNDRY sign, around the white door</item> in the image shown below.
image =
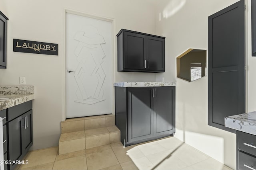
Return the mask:
[[[34,85],[32,149],[58,145],[64,98],[64,8],[115,20],[115,35],[121,28],[155,33],[154,5],[148,0],[1,0],[0,10],[8,20],[7,69],[0,69],[1,85]],[[113,35],[115,37],[115,35]],[[59,55],[13,52],[13,39],[57,43]],[[116,46],[116,44],[115,44]],[[116,61],[116,56],[113,56]],[[116,81],[155,81],[154,73],[116,72]],[[65,106],[64,106],[65,107]]]

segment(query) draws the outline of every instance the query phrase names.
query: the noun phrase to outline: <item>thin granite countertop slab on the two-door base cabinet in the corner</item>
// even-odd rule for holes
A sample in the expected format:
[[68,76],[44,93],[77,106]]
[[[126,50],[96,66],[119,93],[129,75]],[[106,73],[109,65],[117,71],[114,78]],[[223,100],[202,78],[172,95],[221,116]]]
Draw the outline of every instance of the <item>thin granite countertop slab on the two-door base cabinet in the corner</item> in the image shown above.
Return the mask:
[[116,82],[116,87],[160,87],[160,86],[176,86],[176,82]]

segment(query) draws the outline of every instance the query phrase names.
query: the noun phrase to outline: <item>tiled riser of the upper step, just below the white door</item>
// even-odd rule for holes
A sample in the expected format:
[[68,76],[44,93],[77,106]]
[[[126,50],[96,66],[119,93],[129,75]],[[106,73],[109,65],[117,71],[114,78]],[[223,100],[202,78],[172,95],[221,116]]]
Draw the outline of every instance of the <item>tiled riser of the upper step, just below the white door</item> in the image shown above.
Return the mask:
[[95,118],[82,117],[68,119],[61,122],[61,133],[70,133],[75,131],[84,131],[88,129],[96,129],[100,127],[108,127],[115,125],[114,115],[100,115]]

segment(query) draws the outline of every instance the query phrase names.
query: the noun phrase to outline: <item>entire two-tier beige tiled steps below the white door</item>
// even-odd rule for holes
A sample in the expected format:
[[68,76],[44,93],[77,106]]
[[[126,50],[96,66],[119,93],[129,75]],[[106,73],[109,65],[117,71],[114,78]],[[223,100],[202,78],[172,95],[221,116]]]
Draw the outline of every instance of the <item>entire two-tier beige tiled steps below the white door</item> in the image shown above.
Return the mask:
[[59,154],[120,141],[120,130],[112,114],[66,119],[61,122],[61,132]]

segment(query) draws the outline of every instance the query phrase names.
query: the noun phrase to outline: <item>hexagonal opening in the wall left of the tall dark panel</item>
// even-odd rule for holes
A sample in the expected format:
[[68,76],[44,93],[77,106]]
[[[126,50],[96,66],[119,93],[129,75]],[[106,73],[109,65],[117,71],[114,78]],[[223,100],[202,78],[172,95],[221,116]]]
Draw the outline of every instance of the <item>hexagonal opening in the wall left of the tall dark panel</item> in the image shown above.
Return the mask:
[[206,76],[206,50],[188,49],[177,57],[177,77],[188,82]]

